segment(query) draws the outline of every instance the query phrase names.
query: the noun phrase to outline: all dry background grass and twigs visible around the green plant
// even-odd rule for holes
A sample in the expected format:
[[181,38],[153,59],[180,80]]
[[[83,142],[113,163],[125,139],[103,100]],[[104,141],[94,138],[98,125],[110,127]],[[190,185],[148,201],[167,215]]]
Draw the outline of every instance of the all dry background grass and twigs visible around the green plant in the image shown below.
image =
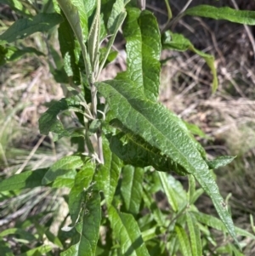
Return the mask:
[[[40,4],[40,1],[37,2]],[[153,10],[163,24],[167,20],[163,1],[147,2],[147,8]],[[194,4],[197,2],[194,1]],[[173,2],[173,12],[178,14],[184,3]],[[229,5],[235,8],[234,3],[229,1]],[[215,4],[223,3],[218,1]],[[240,1],[237,5],[241,9],[255,9],[251,1]],[[18,18],[19,13],[0,1],[0,33]],[[190,52],[179,54],[166,50],[162,58],[171,58],[171,61],[164,65],[161,72],[161,102],[179,117],[201,128],[206,134],[202,136],[201,144],[209,156],[237,156],[234,162],[216,171],[217,180],[220,191],[229,198],[235,225],[252,231],[251,216],[255,213],[255,45],[252,29],[246,30],[244,26],[226,21],[184,18],[176,24],[175,31],[189,37],[196,48],[215,56],[219,88],[212,94],[212,77],[204,60]],[[54,143],[53,138],[38,132],[40,115],[54,100],[61,99],[66,91],[55,82],[49,70],[48,61],[52,61],[54,56],[48,57],[50,44],[46,35],[38,33],[28,37],[25,45],[37,48],[42,55],[26,54],[22,60],[17,56],[15,62],[0,67],[1,179],[26,169],[46,168],[61,156],[75,151],[75,141],[63,138]],[[57,49],[58,45],[54,48]],[[125,69],[122,41],[116,43],[116,48],[119,57],[108,65],[102,80],[115,77],[117,71]],[[50,52],[59,54],[53,50]],[[58,77],[58,74],[55,75],[55,78]],[[69,118],[65,117],[66,123]],[[186,185],[185,178],[178,179]],[[15,197],[11,193],[2,194],[0,232],[14,226],[29,226],[38,214],[43,213],[36,226],[37,236],[59,244],[54,235],[68,211],[66,193],[65,189],[53,191],[44,188],[23,191]],[[157,200],[161,208],[167,207],[165,198],[159,196]],[[206,195],[201,196],[197,207],[205,213],[214,214],[212,202]],[[47,226],[50,230],[46,229]],[[33,241],[29,233],[26,238]],[[22,251],[19,238],[13,237],[11,243],[17,252]],[[246,243],[245,255],[254,255],[254,242]],[[28,245],[24,242],[22,246]]]

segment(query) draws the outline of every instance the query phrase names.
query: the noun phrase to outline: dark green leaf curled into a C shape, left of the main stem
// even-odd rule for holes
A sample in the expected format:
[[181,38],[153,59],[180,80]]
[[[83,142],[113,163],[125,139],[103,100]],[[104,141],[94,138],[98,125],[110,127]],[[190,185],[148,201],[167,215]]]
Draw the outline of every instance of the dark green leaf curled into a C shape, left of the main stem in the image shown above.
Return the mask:
[[72,130],[65,129],[62,122],[59,121],[58,115],[61,111],[66,111],[71,107],[77,107],[79,102],[76,96],[63,98],[48,108],[39,119],[39,129],[41,134],[48,135],[49,132],[59,134],[59,139],[64,136],[82,136]]

